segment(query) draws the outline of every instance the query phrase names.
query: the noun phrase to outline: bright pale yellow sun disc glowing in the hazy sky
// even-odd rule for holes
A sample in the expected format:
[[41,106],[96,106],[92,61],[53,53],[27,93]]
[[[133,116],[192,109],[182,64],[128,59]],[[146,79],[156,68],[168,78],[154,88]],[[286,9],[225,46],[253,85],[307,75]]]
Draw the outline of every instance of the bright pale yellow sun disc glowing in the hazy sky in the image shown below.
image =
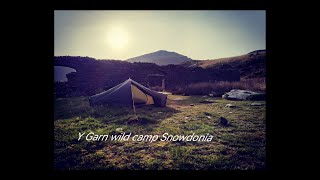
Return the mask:
[[111,48],[122,49],[128,43],[128,33],[122,28],[111,28],[107,32],[107,42]]

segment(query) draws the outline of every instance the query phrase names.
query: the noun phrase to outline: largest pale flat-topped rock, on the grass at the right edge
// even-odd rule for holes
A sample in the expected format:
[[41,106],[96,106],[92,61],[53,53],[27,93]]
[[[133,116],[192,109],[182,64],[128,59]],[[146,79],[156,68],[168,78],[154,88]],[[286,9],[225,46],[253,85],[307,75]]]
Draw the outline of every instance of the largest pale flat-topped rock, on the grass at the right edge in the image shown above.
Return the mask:
[[265,93],[257,93],[253,91],[233,89],[230,92],[222,95],[222,98],[228,100],[251,100],[251,101],[263,101],[265,100]]

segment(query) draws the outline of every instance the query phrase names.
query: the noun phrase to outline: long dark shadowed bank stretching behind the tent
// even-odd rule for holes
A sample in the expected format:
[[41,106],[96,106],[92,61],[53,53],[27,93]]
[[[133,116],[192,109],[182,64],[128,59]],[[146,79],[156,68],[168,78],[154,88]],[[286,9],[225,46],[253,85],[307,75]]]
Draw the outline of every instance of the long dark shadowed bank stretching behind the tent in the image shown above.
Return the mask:
[[[165,77],[166,89],[185,87],[198,82],[240,80],[239,72],[228,68],[194,69],[180,65],[159,66],[154,63],[96,60],[79,56],[56,56],[54,66],[69,67],[76,71],[66,75],[68,79],[66,87],[55,89],[57,97],[93,95],[120,84],[128,78],[145,86],[150,82],[152,86],[161,86],[162,79],[157,79],[154,75]],[[55,71],[55,74],[58,73]]]

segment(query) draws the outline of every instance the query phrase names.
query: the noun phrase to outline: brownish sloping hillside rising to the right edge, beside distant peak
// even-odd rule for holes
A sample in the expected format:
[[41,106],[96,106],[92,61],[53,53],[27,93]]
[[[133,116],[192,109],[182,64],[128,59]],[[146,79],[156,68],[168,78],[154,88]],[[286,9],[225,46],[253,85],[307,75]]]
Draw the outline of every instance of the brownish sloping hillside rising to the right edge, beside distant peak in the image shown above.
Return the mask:
[[181,64],[184,67],[213,69],[229,66],[238,69],[243,79],[266,77],[266,50],[256,50],[241,56],[213,59],[193,60]]

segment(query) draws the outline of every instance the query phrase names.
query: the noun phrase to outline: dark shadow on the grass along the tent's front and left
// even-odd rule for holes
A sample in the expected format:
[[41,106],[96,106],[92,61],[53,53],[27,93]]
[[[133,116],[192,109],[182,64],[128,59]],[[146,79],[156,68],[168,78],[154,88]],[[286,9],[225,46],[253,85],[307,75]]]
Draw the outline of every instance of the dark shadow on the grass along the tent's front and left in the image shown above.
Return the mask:
[[[74,119],[93,117],[103,123],[116,124],[155,124],[180,112],[174,108],[155,105],[135,105],[136,114],[130,106],[95,106],[89,105],[87,98],[66,98],[59,100],[54,109],[54,119]],[[131,121],[137,118],[137,122]]]

